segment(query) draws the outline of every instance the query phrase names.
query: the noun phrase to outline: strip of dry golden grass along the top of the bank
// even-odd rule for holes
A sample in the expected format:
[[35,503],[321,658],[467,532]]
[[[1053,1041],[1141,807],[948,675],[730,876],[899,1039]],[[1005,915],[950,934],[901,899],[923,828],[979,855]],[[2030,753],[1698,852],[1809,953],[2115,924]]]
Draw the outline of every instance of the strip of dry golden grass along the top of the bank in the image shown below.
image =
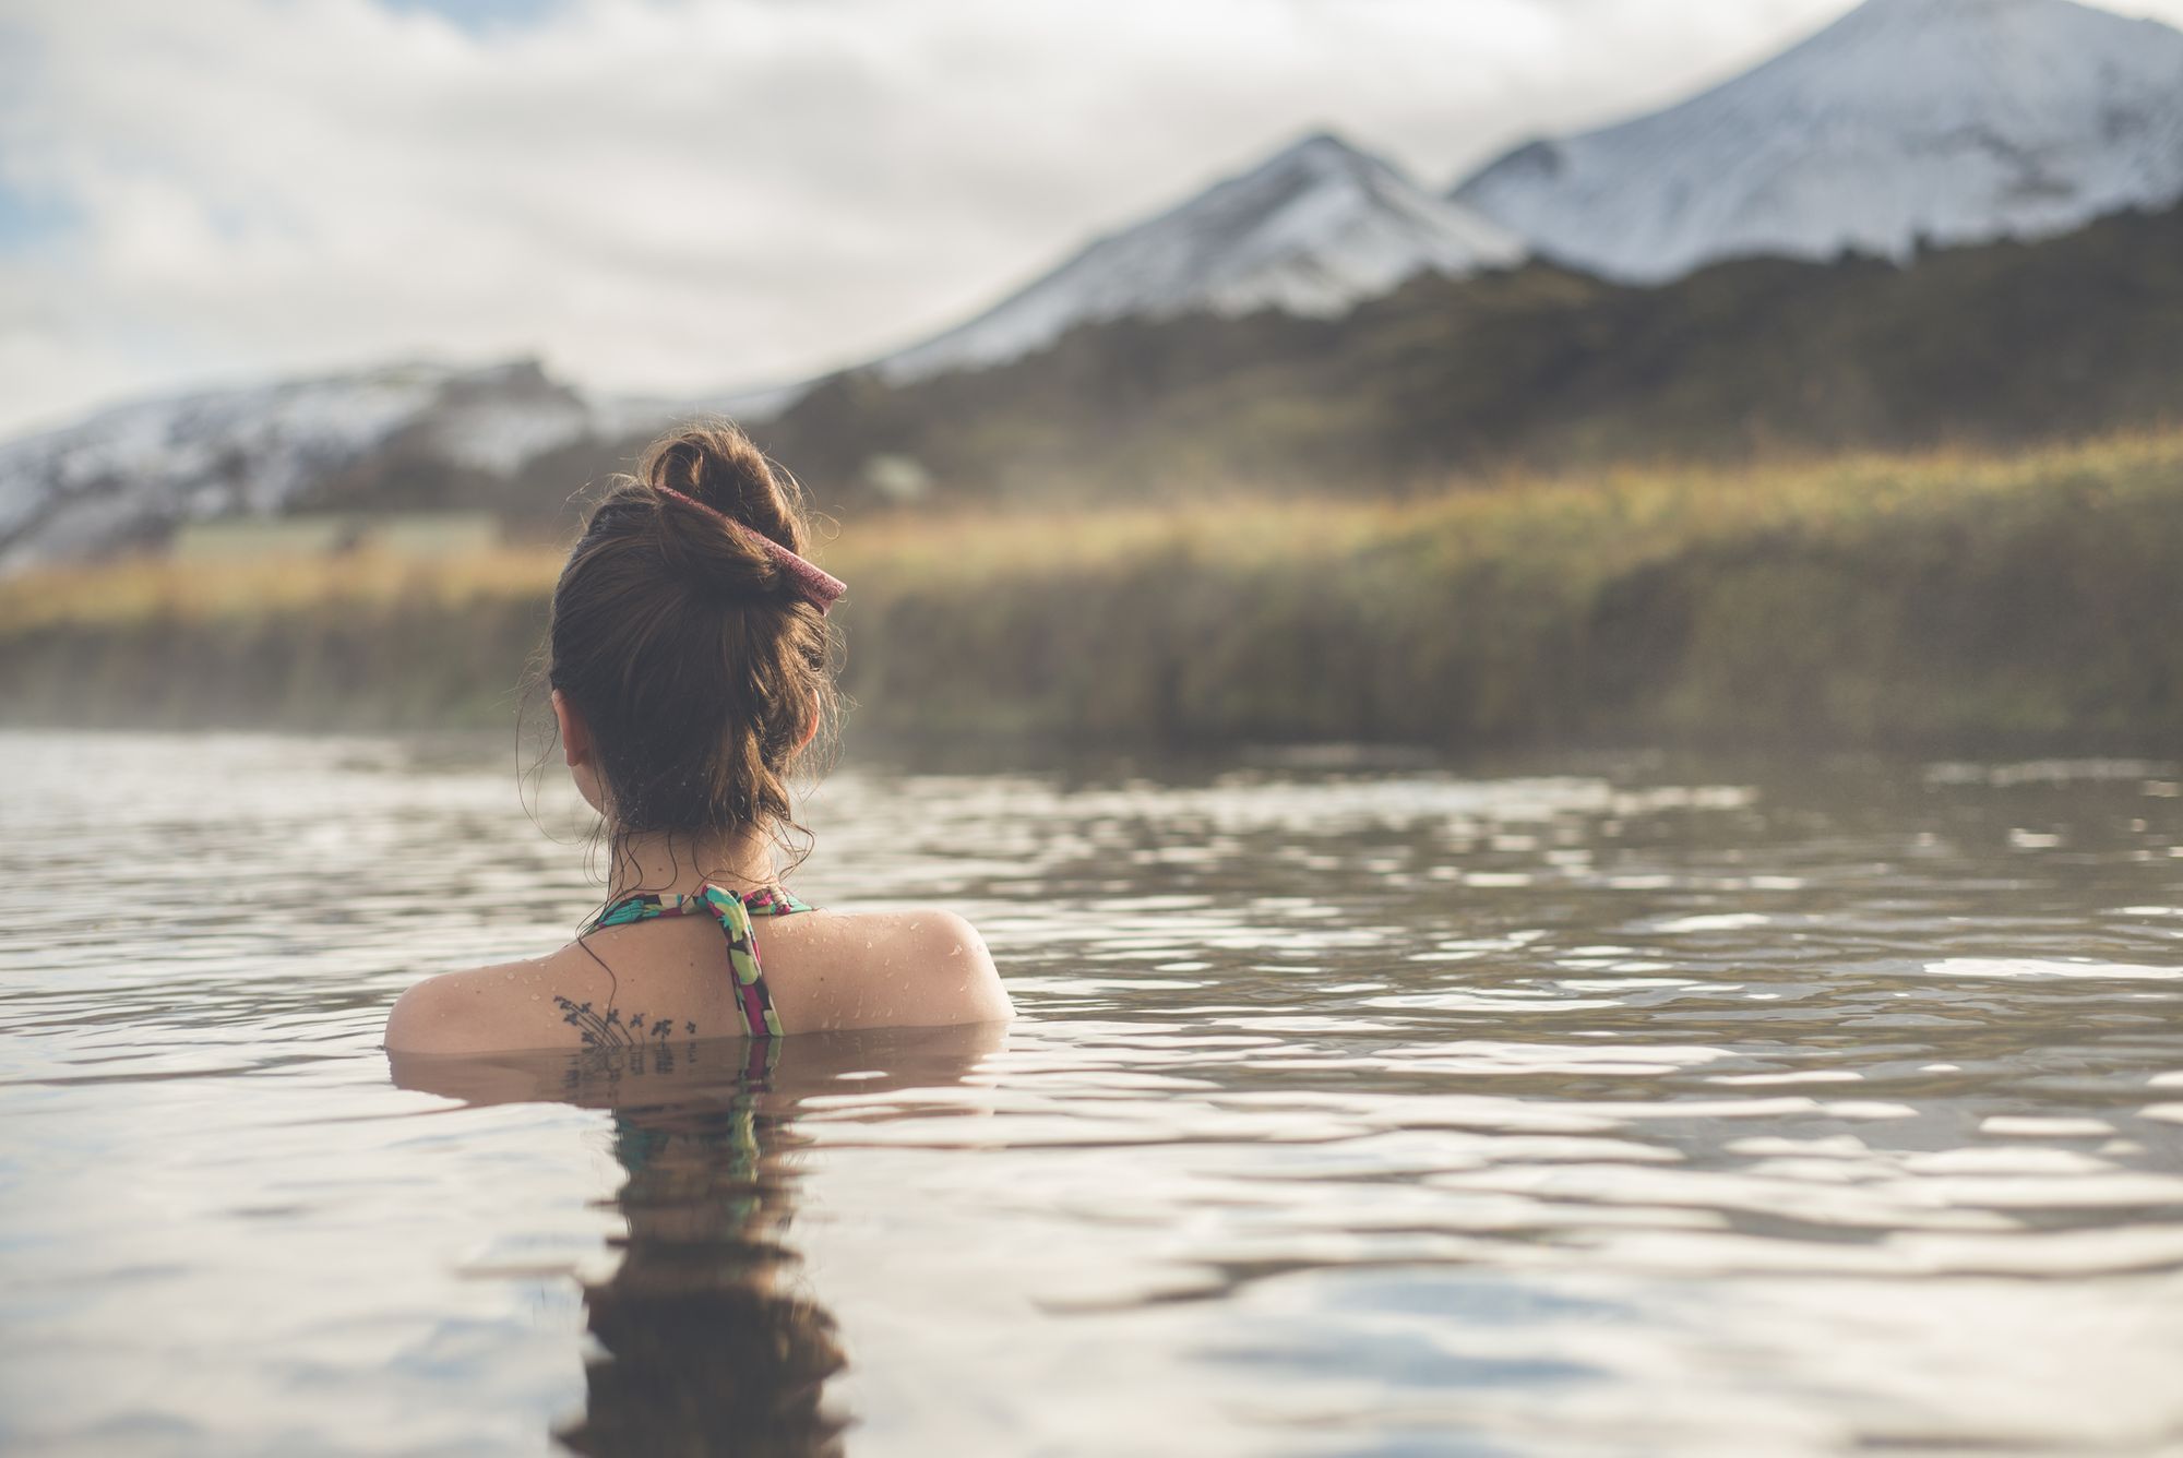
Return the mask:
[[[991,583],[1122,567],[1146,557],[1251,570],[1408,548],[1439,565],[1554,554],[1615,570],[1781,528],[1829,530],[1934,513],[2043,485],[2115,489],[2183,478],[2183,430],[2109,434],[2015,454],[1928,450],[1757,469],[1631,465],[1583,476],[1452,480],[1408,498],[1279,498],[1227,489],[1172,506],[891,511],[840,528],[821,561],[851,583]],[[177,563],[138,557],[0,581],[0,633],[52,624],[207,622],[325,605],[461,607],[544,598],[561,550],[450,559],[375,552]]]

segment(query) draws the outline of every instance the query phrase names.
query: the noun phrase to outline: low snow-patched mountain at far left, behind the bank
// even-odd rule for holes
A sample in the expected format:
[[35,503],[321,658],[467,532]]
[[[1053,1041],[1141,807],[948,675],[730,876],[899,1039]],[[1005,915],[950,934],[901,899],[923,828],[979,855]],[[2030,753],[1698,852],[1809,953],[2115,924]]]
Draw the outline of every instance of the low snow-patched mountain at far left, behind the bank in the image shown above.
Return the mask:
[[177,522],[275,513],[386,450],[509,478],[550,450],[672,413],[672,402],[587,399],[530,360],[131,402],[0,443],[0,570],[151,541]]

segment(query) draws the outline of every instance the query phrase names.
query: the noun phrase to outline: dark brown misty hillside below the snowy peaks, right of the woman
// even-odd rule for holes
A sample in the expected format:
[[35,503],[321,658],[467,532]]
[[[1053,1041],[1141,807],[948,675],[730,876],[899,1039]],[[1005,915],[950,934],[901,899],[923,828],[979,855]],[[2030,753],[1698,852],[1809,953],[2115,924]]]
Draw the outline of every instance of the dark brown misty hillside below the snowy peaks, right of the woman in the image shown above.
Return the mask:
[[2013,445],[2183,413],[2183,210],[2045,242],[1749,260],[1659,288],[1546,264],[1343,319],[1118,321],[1006,369],[823,382],[755,428],[821,500],[878,454],[971,498],[1377,491],[1452,467]]

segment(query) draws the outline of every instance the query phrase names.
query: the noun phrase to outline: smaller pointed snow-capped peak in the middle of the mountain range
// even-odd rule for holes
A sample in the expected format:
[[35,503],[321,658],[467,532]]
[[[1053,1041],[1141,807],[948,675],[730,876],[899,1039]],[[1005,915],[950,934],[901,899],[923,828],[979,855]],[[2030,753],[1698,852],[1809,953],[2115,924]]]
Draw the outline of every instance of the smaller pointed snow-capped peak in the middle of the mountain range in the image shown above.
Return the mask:
[[1196,310],[1338,314],[1428,268],[1450,275],[1524,258],[1515,236],[1436,199],[1334,135],[1310,135],[1257,168],[1120,234],[1009,295],[969,323],[886,356],[888,380],[1000,364],[1078,323]]

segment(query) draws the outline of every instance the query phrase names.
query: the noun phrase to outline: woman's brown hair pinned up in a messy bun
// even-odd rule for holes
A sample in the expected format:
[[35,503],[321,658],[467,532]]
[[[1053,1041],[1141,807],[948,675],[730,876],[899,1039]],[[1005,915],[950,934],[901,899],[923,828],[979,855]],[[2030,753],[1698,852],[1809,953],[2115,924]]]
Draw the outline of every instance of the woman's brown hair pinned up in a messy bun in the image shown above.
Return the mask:
[[692,426],[613,478],[554,585],[546,681],[592,731],[616,853],[648,832],[696,849],[797,829],[788,777],[821,757],[812,716],[838,714],[827,620],[714,511],[806,550],[795,478],[738,428]]

